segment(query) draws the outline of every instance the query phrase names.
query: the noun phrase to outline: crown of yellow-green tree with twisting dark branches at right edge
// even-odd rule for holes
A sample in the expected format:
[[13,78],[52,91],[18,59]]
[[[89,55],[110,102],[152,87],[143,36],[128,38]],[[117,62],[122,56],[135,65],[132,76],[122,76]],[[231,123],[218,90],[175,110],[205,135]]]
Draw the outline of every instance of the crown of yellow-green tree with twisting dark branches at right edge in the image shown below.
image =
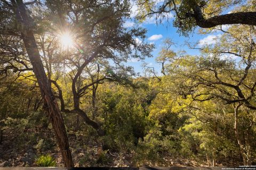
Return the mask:
[[[214,48],[209,46],[201,48],[203,54],[211,56],[206,60],[202,58],[203,60],[198,61],[199,68],[201,68],[199,72],[212,72],[213,80],[209,80],[211,77],[205,79],[203,75],[196,75],[195,80],[199,80],[196,86],[202,86],[200,84],[202,82],[206,86],[219,89],[222,95],[215,97],[226,101],[227,104],[243,103],[250,109],[256,109],[253,99],[256,82],[252,78],[255,71],[256,52],[254,35],[255,30],[252,26],[232,27],[221,37]],[[236,60],[241,60],[239,61],[240,66],[236,63],[238,61],[228,59],[231,56],[236,56]],[[225,81],[223,74],[226,74],[225,76],[230,74],[230,78]],[[235,94],[227,88],[234,90]]]

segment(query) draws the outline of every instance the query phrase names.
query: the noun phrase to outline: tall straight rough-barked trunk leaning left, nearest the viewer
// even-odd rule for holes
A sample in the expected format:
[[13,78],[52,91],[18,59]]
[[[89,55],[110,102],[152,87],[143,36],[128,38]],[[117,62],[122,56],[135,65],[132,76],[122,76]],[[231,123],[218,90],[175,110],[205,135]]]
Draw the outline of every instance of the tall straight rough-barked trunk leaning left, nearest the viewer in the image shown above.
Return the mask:
[[33,25],[32,19],[30,18],[29,12],[22,0],[12,0],[12,4],[15,9],[17,20],[21,25],[24,25],[24,29],[21,30],[21,38],[25,44],[31,65],[33,66],[33,72],[36,75],[41,95],[44,100],[45,110],[51,120],[51,124],[61,150],[63,161],[65,166],[74,167],[71,152],[69,150],[68,137],[63,118],[60,113],[57,101],[52,94],[49,80],[46,77],[44,66],[39,55],[39,50],[34,37],[34,32],[30,28],[31,25]]

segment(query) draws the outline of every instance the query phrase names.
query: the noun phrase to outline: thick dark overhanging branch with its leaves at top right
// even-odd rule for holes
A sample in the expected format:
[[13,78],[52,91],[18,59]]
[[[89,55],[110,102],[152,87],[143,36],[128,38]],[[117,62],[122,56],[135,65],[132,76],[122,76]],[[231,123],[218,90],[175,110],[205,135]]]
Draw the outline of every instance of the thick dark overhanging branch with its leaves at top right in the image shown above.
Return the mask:
[[[183,35],[187,35],[195,26],[212,28],[224,24],[248,24],[256,25],[255,1],[231,0],[231,1],[201,1],[201,0],[167,0],[163,3],[155,1],[139,0],[141,8],[139,19],[145,19],[147,15],[157,14],[157,17],[165,13],[174,12],[176,18],[174,26],[178,27]],[[222,14],[223,11],[236,5],[231,13]]]

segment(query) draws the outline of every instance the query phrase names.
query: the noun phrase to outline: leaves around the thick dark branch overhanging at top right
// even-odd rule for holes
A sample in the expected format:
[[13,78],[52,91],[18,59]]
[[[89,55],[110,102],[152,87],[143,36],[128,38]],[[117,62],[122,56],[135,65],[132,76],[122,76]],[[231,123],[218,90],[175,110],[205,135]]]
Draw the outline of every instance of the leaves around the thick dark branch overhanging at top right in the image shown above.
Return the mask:
[[[156,21],[161,23],[162,20],[166,19],[167,11],[175,14],[173,25],[177,27],[178,32],[183,36],[191,35],[191,32],[195,30],[197,25],[202,27],[202,25],[199,24],[202,18],[207,20],[214,16],[219,16],[230,9],[233,9],[230,11],[232,13],[255,11],[254,1],[245,2],[243,0],[175,0],[164,1],[163,3],[153,0],[137,0],[137,4],[139,6],[137,19],[140,22],[146,20],[147,17],[155,16]],[[202,15],[199,16],[199,13]],[[214,28],[220,28],[219,26],[220,25],[206,29],[204,26],[201,32],[210,32],[214,30]]]

